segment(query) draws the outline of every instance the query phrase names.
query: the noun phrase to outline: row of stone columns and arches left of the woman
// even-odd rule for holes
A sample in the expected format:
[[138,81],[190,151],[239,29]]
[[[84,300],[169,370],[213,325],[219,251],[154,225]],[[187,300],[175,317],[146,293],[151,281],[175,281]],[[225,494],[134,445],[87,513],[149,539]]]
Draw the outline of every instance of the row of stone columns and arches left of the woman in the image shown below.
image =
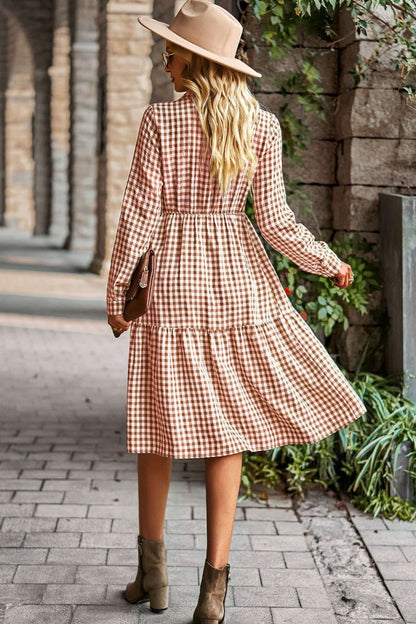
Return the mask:
[[0,0],[0,223],[90,251],[95,272],[111,251],[143,110],[173,96],[137,22],[169,20],[165,5]]

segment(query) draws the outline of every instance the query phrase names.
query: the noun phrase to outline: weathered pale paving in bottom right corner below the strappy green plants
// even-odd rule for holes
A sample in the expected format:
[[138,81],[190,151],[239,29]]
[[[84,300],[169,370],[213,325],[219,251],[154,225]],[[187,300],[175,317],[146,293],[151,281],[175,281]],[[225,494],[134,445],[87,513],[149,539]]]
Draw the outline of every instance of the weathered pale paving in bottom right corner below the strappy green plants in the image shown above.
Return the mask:
[[[319,489],[296,511],[338,624],[415,622],[414,523],[374,519]],[[386,564],[398,551],[401,567]]]

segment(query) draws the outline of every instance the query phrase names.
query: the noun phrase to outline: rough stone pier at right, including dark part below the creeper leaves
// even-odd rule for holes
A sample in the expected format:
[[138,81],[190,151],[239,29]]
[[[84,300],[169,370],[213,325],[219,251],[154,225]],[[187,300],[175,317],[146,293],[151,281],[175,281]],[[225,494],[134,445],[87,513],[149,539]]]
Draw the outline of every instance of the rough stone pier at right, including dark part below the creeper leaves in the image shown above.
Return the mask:
[[[350,33],[350,34],[349,34]],[[337,234],[358,231],[375,243],[380,256],[379,193],[416,194],[416,115],[398,91],[399,77],[391,65],[394,50],[380,58],[376,70],[357,87],[351,70],[359,56],[377,45],[353,33],[347,13],[340,18],[340,94],[336,116],[337,186],[333,195]],[[383,369],[386,316],[383,290],[371,300],[370,314],[352,313],[352,326],[338,345],[345,366],[353,370],[368,342],[367,368]]]

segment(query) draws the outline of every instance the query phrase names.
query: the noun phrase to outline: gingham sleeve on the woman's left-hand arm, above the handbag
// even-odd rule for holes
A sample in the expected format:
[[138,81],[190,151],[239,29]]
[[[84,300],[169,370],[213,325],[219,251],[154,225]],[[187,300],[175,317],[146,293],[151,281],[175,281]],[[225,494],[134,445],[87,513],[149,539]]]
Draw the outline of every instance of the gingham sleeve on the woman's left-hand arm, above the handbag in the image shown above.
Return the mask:
[[123,196],[107,281],[107,312],[122,314],[125,293],[161,210],[160,143],[152,106],[144,111]]

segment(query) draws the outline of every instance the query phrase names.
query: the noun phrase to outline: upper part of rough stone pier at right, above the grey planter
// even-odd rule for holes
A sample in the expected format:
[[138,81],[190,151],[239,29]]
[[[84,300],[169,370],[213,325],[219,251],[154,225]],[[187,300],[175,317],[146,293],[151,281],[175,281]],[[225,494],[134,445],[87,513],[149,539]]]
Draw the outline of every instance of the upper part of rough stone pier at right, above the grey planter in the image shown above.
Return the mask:
[[377,70],[354,88],[349,73],[358,56],[367,56],[376,43],[350,34],[353,25],[340,20],[340,95],[336,116],[338,139],[334,226],[337,230],[379,232],[378,193],[411,194],[416,188],[415,110],[397,91],[398,75],[392,52]]

